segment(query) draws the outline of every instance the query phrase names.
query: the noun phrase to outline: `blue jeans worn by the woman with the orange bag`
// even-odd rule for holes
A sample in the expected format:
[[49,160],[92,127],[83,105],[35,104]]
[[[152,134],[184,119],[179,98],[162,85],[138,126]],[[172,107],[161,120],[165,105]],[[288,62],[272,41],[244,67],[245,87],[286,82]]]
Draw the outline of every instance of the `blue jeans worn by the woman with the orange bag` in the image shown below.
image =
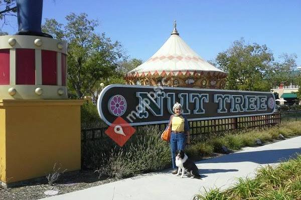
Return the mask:
[[174,133],[172,131],[171,134],[171,151],[172,151],[172,161],[173,161],[173,168],[177,168],[176,166],[176,152],[177,150],[184,150],[186,144],[186,135],[185,133]]

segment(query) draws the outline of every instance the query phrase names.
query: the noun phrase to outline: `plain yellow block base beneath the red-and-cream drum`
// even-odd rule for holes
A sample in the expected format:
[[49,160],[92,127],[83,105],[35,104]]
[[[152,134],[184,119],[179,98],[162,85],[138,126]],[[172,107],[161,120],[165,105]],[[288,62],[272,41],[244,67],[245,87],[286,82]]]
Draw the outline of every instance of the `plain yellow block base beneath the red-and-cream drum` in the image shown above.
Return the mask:
[[0,180],[47,175],[54,164],[80,169],[82,100],[0,99]]

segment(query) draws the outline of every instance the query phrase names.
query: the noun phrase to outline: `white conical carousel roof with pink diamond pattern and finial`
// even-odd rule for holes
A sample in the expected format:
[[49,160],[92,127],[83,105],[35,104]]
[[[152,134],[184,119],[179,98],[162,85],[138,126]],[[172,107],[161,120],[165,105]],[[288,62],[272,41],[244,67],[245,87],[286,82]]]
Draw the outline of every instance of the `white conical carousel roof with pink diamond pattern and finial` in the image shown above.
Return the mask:
[[125,76],[169,76],[169,75],[216,75],[227,73],[216,68],[193,49],[179,36],[174,23],[174,30],[169,39],[147,61],[129,71]]

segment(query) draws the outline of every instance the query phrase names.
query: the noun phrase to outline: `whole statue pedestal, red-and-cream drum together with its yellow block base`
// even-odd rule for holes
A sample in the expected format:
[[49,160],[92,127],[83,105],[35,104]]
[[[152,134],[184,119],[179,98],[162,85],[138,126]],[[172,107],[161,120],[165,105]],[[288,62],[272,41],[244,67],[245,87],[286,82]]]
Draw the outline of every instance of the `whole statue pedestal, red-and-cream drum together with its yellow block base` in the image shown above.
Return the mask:
[[67,44],[0,36],[0,181],[80,169],[80,105],[67,95]]

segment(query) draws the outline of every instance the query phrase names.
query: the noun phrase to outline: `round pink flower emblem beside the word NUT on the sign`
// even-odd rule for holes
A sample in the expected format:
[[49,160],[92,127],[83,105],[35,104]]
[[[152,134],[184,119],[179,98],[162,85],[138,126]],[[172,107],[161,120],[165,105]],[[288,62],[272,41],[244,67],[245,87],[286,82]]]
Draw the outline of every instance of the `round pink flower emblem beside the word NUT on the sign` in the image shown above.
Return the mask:
[[117,94],[109,99],[109,111],[115,116],[121,116],[126,110],[126,100],[123,96]]

